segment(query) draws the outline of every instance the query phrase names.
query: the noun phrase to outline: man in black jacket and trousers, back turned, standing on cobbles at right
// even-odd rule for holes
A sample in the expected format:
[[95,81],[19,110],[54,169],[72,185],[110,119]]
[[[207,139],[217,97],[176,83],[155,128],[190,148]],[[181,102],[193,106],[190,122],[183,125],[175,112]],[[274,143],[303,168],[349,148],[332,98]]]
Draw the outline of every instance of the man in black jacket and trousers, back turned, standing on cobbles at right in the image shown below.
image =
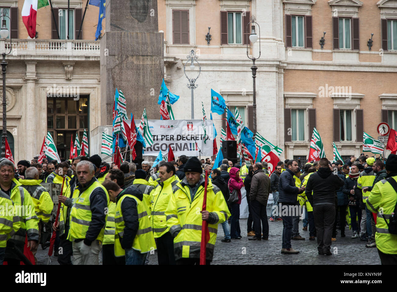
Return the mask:
[[343,180],[337,175],[333,175],[332,167],[328,163],[327,158],[320,158],[318,163],[320,168],[316,173],[310,175],[305,192],[310,204],[313,206],[318,254],[331,255],[336,190],[343,186]]

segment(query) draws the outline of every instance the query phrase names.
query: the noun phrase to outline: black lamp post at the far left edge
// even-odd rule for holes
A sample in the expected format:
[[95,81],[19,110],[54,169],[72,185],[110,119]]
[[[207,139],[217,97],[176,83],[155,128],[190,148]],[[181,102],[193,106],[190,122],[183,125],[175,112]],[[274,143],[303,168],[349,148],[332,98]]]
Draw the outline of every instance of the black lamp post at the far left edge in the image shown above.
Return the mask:
[[[9,31],[7,29],[6,25],[6,19],[4,17],[7,17],[10,19],[10,26],[11,26],[11,18],[7,16],[6,11],[2,11],[0,18],[2,18],[2,26],[0,29],[0,37],[2,39],[6,39],[8,37]],[[7,114],[6,114],[6,69],[7,69],[7,62],[6,62],[6,55],[11,53],[11,36],[10,36],[10,52],[2,53],[3,60],[1,61],[1,67],[2,67],[2,73],[3,73],[3,133],[2,133],[2,146],[1,146],[1,157],[6,157],[6,138],[7,138]],[[7,51],[7,49],[5,49]]]

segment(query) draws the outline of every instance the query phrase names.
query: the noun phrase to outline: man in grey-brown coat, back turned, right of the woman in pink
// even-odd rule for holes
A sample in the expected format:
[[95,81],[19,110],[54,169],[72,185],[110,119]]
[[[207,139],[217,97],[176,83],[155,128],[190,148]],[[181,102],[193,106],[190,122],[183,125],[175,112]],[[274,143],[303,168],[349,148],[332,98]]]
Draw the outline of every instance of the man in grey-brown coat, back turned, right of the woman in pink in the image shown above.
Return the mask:
[[[252,219],[254,220],[255,236],[248,238],[249,240],[268,240],[269,224],[268,216],[266,214],[266,206],[270,193],[270,179],[262,169],[263,165],[260,162],[254,164],[254,175],[251,181],[250,202]],[[260,222],[262,221],[262,228]],[[263,237],[261,238],[260,231],[262,230]]]

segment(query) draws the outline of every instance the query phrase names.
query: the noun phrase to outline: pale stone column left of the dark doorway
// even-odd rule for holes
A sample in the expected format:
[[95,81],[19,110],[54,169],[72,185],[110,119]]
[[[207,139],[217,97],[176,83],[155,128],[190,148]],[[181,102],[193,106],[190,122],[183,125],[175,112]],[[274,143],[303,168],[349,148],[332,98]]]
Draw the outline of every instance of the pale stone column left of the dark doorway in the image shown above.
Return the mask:
[[[26,76],[24,80],[26,81],[26,94],[22,97],[22,102],[25,104],[25,110],[22,113],[21,118],[21,131],[19,131],[20,137],[18,141],[20,144],[19,149],[24,149],[25,157],[17,158],[19,160],[26,159],[30,160],[39,154],[41,144],[39,145],[39,140],[42,142],[42,133],[38,133],[39,119],[43,117],[46,118],[46,112],[44,115],[38,112],[37,107],[37,92],[36,92],[36,64],[37,61],[25,61],[26,64]],[[39,138],[39,137],[40,138]]]

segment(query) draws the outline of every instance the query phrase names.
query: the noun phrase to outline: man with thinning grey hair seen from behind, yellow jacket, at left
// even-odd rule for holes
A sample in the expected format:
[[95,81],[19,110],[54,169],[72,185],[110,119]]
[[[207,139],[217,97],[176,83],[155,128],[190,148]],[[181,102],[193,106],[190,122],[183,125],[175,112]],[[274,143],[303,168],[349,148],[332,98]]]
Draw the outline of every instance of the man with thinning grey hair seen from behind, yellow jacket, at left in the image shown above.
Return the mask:
[[[39,218],[39,242],[41,238],[42,226],[47,225],[46,230],[51,230],[51,223],[49,223],[49,221],[51,218],[52,209],[54,208],[52,198],[50,194],[48,194],[47,190],[40,184],[41,182],[41,179],[39,179],[39,170],[35,166],[28,167],[25,170],[25,179],[19,179],[19,183],[21,183],[23,188],[25,188],[32,196],[32,201],[35,206],[35,212],[37,217]],[[49,235],[50,234],[48,232],[45,232],[43,234],[44,243],[48,241],[46,240],[46,238],[48,238]],[[30,248],[33,256],[35,257],[35,261],[37,261],[37,247],[38,245],[36,246],[36,248]]]

